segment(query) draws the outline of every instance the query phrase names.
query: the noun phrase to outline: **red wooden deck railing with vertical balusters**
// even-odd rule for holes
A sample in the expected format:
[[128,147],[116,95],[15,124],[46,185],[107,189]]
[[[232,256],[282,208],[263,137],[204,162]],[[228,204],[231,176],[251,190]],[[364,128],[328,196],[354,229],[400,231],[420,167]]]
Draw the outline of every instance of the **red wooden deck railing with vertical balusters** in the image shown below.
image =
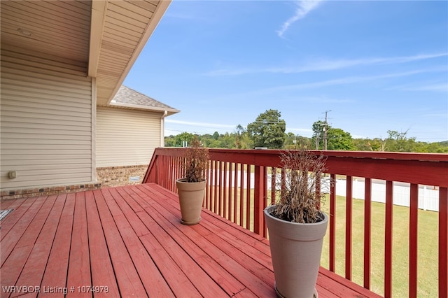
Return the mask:
[[[176,192],[181,178],[183,148],[157,148],[144,183],[158,183]],[[266,236],[263,209],[272,203],[279,150],[210,149],[210,171],[204,207],[218,215]],[[370,289],[372,235],[372,179],[386,181],[384,225],[384,297],[392,295],[393,185],[409,183],[409,297],[417,296],[419,185],[438,188],[438,295],[448,297],[448,155],[395,152],[316,151],[327,159],[332,179],[346,177],[345,278],[352,278],[352,190],[353,178],[364,178],[364,268],[363,286]],[[268,181],[271,182],[268,187]],[[329,225],[329,269],[336,264],[336,190],[331,187]]]

